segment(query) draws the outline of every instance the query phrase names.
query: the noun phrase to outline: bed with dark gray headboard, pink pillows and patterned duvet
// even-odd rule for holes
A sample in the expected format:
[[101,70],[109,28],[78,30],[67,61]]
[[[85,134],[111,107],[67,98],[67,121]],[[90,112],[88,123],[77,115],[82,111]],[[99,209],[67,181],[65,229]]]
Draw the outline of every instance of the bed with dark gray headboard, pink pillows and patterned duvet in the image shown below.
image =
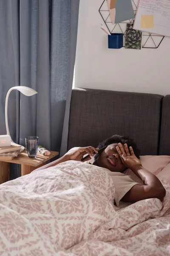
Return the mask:
[[166,196],[116,207],[111,178],[97,166],[35,170],[0,185],[0,255],[170,255],[169,120],[170,96],[74,89],[68,150],[128,135]]

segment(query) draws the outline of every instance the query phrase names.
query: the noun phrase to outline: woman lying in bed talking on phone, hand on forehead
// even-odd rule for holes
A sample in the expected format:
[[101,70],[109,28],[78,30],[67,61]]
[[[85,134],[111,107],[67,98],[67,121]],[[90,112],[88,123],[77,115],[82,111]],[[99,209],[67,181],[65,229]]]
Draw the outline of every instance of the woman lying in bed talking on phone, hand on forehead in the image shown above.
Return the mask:
[[[98,154],[97,149],[104,146],[107,148]],[[68,160],[81,161],[85,154],[89,154],[89,158],[86,160],[90,160],[94,156],[95,160],[92,165],[105,168],[111,176],[115,186],[117,206],[119,201],[137,202],[147,198],[162,199],[166,195],[166,190],[160,180],[143,168],[136,144],[125,136],[113,135],[100,143],[98,148],[88,146],[68,151],[63,157],[46,165],[45,168]],[[126,168],[131,169],[143,181],[143,184],[136,183],[129,176],[124,175],[122,172]],[[42,166],[40,169],[44,169],[44,167]]]

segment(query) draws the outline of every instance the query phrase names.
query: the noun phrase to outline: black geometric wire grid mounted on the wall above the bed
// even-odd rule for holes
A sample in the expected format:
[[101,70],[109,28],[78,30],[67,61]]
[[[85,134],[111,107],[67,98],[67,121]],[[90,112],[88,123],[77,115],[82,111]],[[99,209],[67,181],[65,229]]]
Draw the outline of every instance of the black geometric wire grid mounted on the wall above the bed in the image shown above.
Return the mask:
[[[132,0],[133,11],[136,14],[138,0]],[[122,33],[124,35],[124,47],[125,47],[125,38],[126,38],[126,24],[133,23],[134,19],[126,20],[120,23],[112,24],[110,12],[108,9],[107,0],[104,0],[102,5],[99,8],[99,13],[102,16],[102,19],[105,22],[110,33]],[[158,48],[161,44],[164,36],[156,35],[153,33],[143,32],[142,34],[142,48]]]

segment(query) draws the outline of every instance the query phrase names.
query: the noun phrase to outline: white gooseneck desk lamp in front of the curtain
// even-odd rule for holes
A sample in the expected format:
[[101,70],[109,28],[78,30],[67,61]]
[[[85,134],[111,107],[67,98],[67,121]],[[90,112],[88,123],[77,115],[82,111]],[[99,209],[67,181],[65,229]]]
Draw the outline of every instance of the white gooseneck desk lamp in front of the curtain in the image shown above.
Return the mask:
[[[8,90],[8,93],[6,95],[6,105],[5,105],[6,132],[7,132],[8,136],[10,136],[9,127],[8,127],[8,97],[12,90],[19,90],[20,93],[23,93],[26,96],[32,96],[37,93],[35,90],[33,90],[29,87],[26,87],[26,86],[15,86],[15,87],[11,87],[11,89]],[[3,137],[3,135],[0,135],[0,137]],[[12,139],[11,139],[11,145],[20,146],[20,145],[14,143]],[[20,152],[22,152],[22,151],[24,151],[24,146],[21,146]]]

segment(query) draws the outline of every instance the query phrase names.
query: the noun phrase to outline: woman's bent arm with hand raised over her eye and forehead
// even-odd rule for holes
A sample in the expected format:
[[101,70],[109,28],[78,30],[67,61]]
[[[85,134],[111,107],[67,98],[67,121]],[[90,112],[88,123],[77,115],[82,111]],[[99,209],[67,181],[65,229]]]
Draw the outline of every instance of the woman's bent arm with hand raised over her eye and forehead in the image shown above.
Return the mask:
[[122,162],[127,168],[130,168],[144,183],[136,184],[129,192],[122,198],[122,201],[136,202],[147,198],[159,198],[162,199],[166,195],[166,190],[161,181],[147,169],[144,169],[141,161],[135,156],[133,148],[130,147],[130,153],[125,144],[125,149],[122,144],[119,143],[119,147],[116,147]]

